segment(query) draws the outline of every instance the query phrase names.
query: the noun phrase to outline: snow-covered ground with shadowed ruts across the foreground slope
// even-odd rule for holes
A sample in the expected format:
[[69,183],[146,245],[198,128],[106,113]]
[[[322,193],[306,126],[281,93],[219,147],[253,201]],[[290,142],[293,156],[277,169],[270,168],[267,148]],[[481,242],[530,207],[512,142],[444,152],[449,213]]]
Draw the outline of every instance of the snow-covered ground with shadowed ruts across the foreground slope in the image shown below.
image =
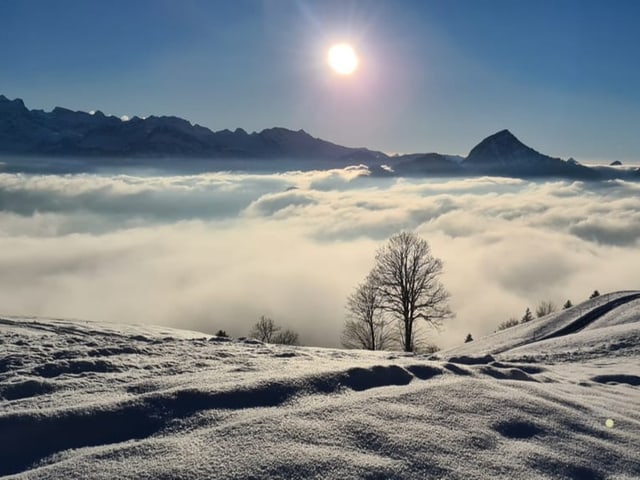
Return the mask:
[[0,476],[640,478],[640,292],[433,357],[2,317]]

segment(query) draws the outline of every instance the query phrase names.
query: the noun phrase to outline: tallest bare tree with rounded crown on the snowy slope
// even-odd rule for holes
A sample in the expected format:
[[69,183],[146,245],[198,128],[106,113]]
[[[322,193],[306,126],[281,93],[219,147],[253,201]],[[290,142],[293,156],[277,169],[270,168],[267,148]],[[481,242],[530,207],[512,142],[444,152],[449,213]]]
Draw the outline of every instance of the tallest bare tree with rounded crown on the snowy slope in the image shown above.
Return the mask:
[[449,292],[439,280],[441,273],[442,262],[431,254],[426,240],[415,233],[394,235],[376,254],[371,278],[382,308],[401,322],[400,340],[407,352],[416,347],[416,320],[439,327],[453,316]]

